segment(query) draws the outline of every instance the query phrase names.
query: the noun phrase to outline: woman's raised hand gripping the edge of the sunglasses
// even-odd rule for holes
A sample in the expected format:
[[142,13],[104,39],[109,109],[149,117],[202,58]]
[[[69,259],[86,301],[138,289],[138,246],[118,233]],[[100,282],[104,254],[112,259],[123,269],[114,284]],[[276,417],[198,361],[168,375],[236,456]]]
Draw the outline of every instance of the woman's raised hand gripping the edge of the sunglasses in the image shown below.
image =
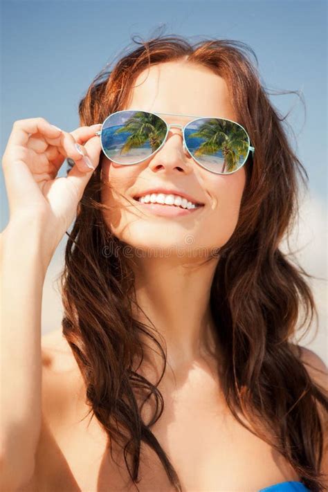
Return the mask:
[[[51,254],[69,229],[93,173],[88,159],[94,167],[99,163],[101,145],[95,132],[100,127],[79,127],[67,133],[44,118],[17,120],[12,126],[2,158],[10,222],[17,217],[39,220]],[[68,176],[57,177],[67,157],[75,165]]]

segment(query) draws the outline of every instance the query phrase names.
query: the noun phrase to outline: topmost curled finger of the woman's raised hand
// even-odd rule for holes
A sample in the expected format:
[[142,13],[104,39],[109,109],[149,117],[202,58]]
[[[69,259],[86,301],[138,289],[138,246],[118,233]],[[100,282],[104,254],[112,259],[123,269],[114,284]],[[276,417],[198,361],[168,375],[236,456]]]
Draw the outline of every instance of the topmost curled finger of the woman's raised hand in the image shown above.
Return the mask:
[[12,132],[8,138],[8,144],[26,145],[30,135],[37,133],[55,138],[60,136],[62,130],[54,127],[44,118],[26,118],[25,120],[17,120],[12,125]]

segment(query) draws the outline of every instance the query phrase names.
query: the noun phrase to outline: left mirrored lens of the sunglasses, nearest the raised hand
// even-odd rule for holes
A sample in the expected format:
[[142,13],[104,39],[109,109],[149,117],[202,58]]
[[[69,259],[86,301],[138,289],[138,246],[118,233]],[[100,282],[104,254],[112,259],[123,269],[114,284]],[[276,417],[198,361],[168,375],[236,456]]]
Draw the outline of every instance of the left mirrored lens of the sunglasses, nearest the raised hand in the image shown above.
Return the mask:
[[145,160],[161,146],[167,127],[165,122],[145,111],[118,111],[102,126],[104,154],[119,164]]

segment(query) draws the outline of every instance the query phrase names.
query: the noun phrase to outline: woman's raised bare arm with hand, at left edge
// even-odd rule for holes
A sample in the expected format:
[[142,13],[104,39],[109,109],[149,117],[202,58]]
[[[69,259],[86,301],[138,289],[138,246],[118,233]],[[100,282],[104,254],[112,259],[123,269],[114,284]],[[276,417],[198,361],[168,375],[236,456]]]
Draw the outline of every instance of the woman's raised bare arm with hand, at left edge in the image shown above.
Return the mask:
[[[98,164],[97,126],[69,134],[44,118],[19,120],[3,155],[10,206],[0,237],[0,489],[6,492],[18,490],[34,472],[41,428],[42,288],[92,175],[80,152]],[[76,149],[76,142],[86,145]],[[58,178],[66,156],[75,165]]]

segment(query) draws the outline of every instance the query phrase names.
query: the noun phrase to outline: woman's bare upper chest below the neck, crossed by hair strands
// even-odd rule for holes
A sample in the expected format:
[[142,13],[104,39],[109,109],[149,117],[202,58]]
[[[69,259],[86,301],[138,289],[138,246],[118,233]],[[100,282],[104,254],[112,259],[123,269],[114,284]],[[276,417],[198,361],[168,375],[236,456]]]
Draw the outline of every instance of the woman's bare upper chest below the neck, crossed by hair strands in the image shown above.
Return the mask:
[[[163,397],[165,409],[152,432],[184,492],[255,492],[284,480],[298,480],[282,457],[230,415],[215,383],[185,385],[179,392],[164,392]],[[75,401],[60,418],[44,416],[30,484],[34,489],[26,491],[136,491],[122,453],[113,444],[111,456],[107,434],[98,421],[83,418],[88,410]],[[143,443],[139,477],[140,492],[173,492],[156,453]]]

